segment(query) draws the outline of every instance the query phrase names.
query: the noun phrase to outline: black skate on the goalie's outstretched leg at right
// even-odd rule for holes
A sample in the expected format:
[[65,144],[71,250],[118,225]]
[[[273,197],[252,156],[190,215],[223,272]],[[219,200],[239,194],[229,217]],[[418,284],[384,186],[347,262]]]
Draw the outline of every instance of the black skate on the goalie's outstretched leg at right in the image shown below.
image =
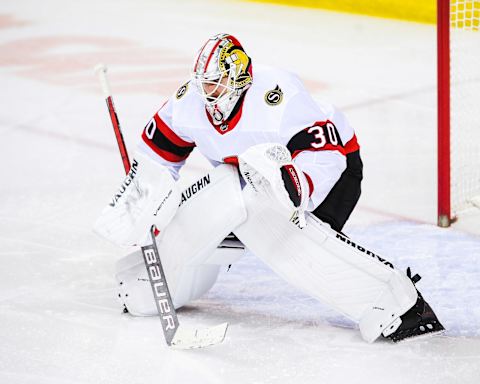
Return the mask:
[[[412,277],[410,268],[407,269],[407,276],[412,280],[413,284],[420,280],[419,275]],[[430,305],[428,305],[423,299],[420,292],[418,292],[418,298],[415,305],[400,316],[400,319],[402,320],[402,324],[400,324],[398,329],[391,335],[386,336],[394,342],[411,337],[439,333],[445,330],[443,325],[438,321],[438,318]]]

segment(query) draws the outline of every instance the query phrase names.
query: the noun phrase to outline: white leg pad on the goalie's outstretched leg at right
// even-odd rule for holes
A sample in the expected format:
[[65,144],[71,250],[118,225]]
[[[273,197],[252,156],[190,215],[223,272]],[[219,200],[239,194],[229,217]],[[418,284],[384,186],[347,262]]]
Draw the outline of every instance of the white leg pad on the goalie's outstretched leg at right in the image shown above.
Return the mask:
[[302,229],[268,195],[243,191],[248,219],[234,233],[292,285],[360,323],[373,342],[417,299],[391,263],[333,231],[311,214]]

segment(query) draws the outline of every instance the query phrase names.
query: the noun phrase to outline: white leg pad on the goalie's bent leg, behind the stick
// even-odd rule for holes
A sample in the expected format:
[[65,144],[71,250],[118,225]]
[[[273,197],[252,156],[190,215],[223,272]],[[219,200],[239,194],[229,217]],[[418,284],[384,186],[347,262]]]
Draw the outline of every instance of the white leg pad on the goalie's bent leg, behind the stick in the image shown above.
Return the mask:
[[[176,215],[157,237],[158,252],[176,308],[208,291],[217,278],[220,265],[241,257],[243,249],[235,249],[227,255],[225,252],[219,254],[217,246],[245,219],[240,180],[234,166],[220,165],[182,192]],[[138,259],[138,263],[140,261]],[[148,279],[142,280],[146,272],[135,265],[135,261],[125,260],[117,266],[117,279],[128,286],[125,292],[129,295],[127,308],[132,314],[156,314]],[[137,293],[137,288],[133,288],[137,282],[144,283],[145,289],[138,288],[134,304],[131,292]],[[138,310],[131,307],[138,307]]]

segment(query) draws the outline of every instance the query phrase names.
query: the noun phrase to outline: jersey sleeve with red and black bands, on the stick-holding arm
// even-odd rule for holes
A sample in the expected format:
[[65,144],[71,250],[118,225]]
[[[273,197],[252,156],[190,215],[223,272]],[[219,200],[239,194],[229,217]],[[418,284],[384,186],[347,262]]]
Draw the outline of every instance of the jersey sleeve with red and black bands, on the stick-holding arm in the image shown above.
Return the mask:
[[142,132],[139,149],[165,165],[175,180],[195,143],[173,124],[173,103],[167,101]]

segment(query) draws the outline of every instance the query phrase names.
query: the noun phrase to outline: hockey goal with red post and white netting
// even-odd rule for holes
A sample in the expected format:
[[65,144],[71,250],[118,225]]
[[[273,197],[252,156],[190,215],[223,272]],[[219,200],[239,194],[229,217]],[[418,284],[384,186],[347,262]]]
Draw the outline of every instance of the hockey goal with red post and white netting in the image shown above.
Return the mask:
[[480,208],[480,0],[437,0],[438,225]]

